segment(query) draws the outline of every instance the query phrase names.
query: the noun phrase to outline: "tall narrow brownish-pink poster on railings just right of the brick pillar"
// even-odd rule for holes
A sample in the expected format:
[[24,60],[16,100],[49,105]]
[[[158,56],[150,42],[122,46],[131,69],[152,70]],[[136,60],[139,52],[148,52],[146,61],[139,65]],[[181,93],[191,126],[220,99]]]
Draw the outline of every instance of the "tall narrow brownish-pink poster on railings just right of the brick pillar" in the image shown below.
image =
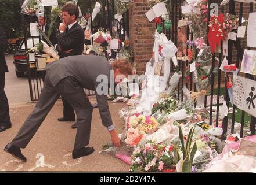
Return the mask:
[[186,24],[186,20],[179,20],[177,39],[178,39],[177,59],[186,61],[186,54],[187,54],[187,24]]

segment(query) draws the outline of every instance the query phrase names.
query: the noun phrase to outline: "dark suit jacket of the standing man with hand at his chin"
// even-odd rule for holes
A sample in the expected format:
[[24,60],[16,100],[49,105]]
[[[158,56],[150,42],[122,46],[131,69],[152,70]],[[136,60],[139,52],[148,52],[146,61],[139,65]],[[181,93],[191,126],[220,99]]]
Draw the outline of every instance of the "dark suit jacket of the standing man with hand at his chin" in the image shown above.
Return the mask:
[[[57,51],[59,51],[60,58],[81,55],[84,51],[84,31],[78,23],[75,23],[67,33],[60,34],[57,40]],[[70,49],[73,49],[70,53],[62,52]]]

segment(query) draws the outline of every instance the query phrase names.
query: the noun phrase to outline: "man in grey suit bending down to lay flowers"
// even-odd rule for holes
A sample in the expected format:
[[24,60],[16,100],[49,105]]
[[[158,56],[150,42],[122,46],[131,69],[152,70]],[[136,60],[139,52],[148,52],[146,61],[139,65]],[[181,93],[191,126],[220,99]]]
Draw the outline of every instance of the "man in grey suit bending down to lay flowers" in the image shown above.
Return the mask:
[[[114,73],[110,72],[112,69]],[[48,64],[46,72],[44,89],[35,109],[4,150],[26,161],[20,148],[27,146],[57,99],[62,96],[73,106],[78,117],[73,158],[93,153],[92,147],[85,147],[89,145],[93,108],[86,98],[84,88],[96,91],[103,85],[108,90],[111,79],[117,79],[118,75],[132,74],[131,64],[126,60],[116,60],[110,65],[107,59],[101,56],[70,56]],[[102,76],[107,77],[107,81],[99,82]],[[114,130],[106,94],[100,95],[97,92],[96,99],[103,125],[109,130],[114,146],[120,146],[120,139]]]

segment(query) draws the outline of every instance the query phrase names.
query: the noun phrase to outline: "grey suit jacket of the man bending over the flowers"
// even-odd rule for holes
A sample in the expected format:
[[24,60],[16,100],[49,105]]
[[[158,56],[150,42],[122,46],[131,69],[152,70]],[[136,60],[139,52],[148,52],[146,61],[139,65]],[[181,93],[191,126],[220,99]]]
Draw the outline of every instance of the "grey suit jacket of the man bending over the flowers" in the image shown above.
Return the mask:
[[[81,87],[89,90],[96,90],[100,84],[106,87],[106,89],[104,89],[106,90],[106,92],[104,92],[106,94],[108,93],[110,84],[110,70],[111,66],[106,58],[92,55],[70,56],[52,62],[46,66],[47,75],[53,86],[56,86],[60,80],[65,77],[73,76],[78,83],[77,90],[82,91]],[[97,82],[97,77],[99,75],[107,77],[107,81],[104,81],[104,83]],[[64,93],[77,93],[77,90],[64,88]],[[96,98],[102,123],[104,126],[109,127],[113,123],[107,104],[107,96],[99,95],[96,92]]]

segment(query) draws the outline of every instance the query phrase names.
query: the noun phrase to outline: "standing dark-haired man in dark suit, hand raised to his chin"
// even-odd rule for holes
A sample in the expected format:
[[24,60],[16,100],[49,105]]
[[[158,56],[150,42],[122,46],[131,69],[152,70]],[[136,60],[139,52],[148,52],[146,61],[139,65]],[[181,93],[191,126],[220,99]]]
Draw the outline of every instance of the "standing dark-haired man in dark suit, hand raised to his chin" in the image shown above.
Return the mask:
[[[57,51],[60,58],[81,55],[84,50],[84,31],[77,23],[79,9],[73,3],[67,3],[62,7],[63,23],[59,27],[60,35],[57,40]],[[75,121],[75,113],[72,106],[62,97],[63,117],[59,121]]]

